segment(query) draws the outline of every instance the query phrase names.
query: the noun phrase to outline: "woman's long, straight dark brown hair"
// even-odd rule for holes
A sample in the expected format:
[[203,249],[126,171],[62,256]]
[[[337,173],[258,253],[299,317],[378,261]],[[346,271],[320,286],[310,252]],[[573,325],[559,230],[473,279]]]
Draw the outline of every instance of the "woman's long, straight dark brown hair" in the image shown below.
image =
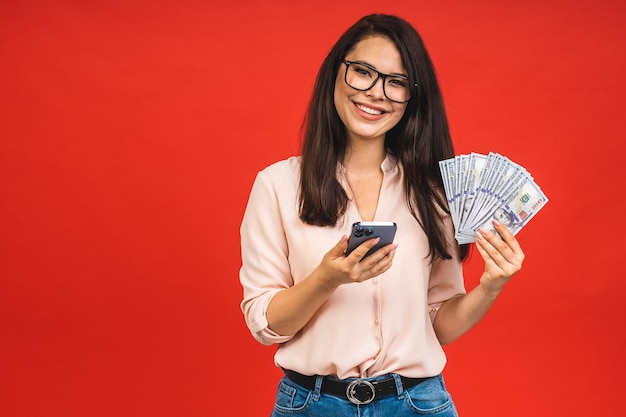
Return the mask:
[[[411,80],[411,99],[400,122],[387,132],[385,146],[404,170],[407,204],[428,237],[431,259],[450,259],[451,243],[447,243],[440,215],[442,210],[449,211],[442,197],[438,165],[454,156],[450,129],[424,43],[413,26],[397,16],[361,18],[339,38],[322,63],[303,124],[300,218],[312,225],[334,226],[346,211],[348,196],[336,172],[346,152],[347,135],[335,109],[335,79],[348,52],[375,35],[395,44]],[[465,259],[468,245],[452,252]]]

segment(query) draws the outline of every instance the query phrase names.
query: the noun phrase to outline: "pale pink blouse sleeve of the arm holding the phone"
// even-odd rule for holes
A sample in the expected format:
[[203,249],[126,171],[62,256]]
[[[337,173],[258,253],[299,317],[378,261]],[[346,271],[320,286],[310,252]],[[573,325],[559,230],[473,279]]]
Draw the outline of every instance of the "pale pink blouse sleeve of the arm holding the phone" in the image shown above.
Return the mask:
[[271,299],[277,292],[293,285],[289,248],[275,187],[263,171],[257,175],[240,229],[241,310],[254,338],[265,345],[283,343],[293,337],[276,334],[267,321]]

